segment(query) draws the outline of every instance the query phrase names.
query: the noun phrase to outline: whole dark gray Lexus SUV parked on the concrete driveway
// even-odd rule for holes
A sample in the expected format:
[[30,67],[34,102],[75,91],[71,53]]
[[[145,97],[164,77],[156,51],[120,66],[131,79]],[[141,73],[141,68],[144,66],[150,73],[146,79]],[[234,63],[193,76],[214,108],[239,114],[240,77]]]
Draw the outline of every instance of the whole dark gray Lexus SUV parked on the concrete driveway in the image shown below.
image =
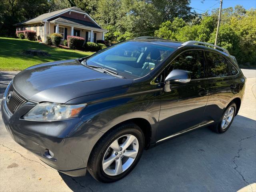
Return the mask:
[[140,37],[23,70],[1,112],[10,136],[49,166],[114,182],[144,149],[201,127],[226,132],[245,80],[224,48]]

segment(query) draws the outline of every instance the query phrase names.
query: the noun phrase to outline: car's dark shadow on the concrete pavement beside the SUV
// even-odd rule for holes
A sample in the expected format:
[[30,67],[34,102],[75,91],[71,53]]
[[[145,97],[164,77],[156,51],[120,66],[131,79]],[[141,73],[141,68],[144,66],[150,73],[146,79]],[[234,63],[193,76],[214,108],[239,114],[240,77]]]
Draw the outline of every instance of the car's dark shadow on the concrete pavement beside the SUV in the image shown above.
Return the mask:
[[256,182],[255,134],[256,121],[238,115],[224,134],[201,128],[144,151],[118,182],[60,176],[73,191],[237,191]]

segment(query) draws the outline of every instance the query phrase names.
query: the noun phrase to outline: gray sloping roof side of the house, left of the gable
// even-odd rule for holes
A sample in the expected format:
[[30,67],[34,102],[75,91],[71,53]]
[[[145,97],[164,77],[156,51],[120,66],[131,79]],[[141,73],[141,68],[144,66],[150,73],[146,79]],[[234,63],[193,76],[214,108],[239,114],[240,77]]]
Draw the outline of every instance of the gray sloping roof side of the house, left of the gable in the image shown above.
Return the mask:
[[35,23],[35,22],[41,22],[44,19],[47,19],[49,17],[52,17],[54,15],[60,14],[62,12],[68,11],[68,10],[79,11],[79,12],[83,12],[83,13],[86,14],[86,12],[84,12],[82,9],[80,9],[78,7],[70,7],[70,8],[66,8],[66,9],[62,9],[62,10],[53,11],[53,12],[50,12],[50,13],[45,13],[45,14],[39,15],[39,16],[34,17],[32,19],[28,19],[28,20],[16,23],[16,24],[14,24],[14,26],[18,26],[18,25],[22,25],[22,24]]

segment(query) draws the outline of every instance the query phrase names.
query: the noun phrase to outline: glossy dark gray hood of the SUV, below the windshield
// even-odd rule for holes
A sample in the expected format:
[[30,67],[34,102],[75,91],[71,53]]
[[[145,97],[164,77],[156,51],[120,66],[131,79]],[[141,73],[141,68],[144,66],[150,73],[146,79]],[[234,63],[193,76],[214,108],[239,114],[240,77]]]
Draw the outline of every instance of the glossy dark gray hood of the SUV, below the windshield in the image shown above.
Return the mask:
[[78,60],[66,60],[27,68],[14,77],[13,86],[30,101],[66,103],[81,96],[126,88],[132,82],[88,68]]

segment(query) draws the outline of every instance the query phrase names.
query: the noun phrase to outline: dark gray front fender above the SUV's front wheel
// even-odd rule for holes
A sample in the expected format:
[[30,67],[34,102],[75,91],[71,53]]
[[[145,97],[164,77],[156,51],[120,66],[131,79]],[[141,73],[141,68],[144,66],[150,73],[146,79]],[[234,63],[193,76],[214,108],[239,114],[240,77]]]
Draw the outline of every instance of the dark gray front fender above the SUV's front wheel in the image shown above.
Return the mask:
[[[88,102],[88,106],[80,114],[81,120],[87,126],[106,133],[121,122],[143,118],[151,126],[151,142],[154,142],[160,113],[160,89],[135,93],[122,91],[115,94],[115,92],[108,93],[111,96],[105,99]],[[94,98],[100,97],[95,95]]]

